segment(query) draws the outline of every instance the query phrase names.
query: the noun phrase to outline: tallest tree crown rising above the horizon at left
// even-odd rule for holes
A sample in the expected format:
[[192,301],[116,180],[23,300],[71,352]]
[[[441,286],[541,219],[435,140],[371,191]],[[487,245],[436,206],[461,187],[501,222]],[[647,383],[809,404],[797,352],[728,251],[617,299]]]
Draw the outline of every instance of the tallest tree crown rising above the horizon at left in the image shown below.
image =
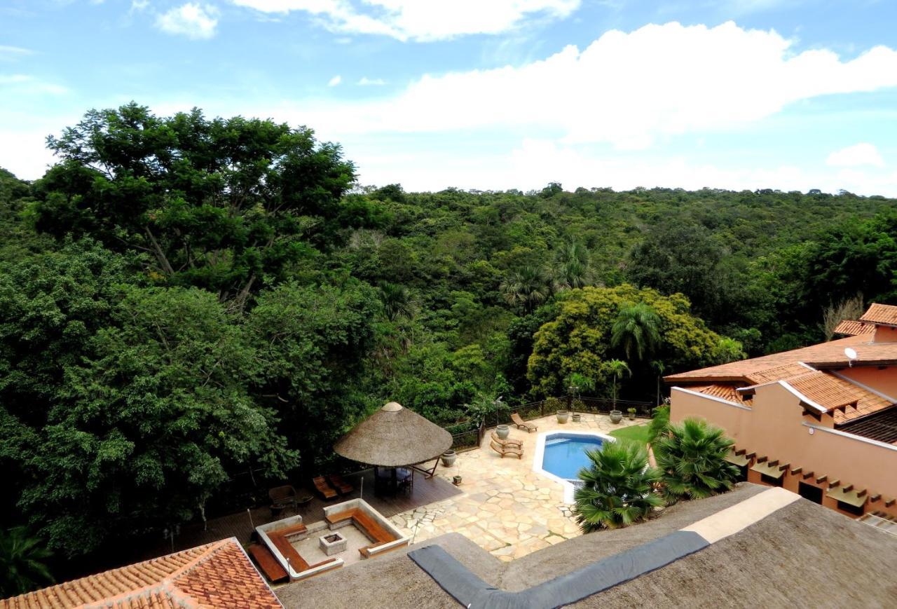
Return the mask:
[[40,231],[147,252],[160,281],[237,308],[352,224],[346,213],[365,215],[341,203],[353,164],[306,127],[132,102],[89,111],[48,145],[60,162],[37,188]]

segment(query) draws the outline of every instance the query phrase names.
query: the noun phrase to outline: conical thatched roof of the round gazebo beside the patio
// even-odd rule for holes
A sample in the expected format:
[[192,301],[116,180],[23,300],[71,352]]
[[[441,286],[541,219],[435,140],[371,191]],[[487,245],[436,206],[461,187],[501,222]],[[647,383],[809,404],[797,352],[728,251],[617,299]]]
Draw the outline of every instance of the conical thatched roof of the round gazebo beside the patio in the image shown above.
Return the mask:
[[439,457],[451,442],[451,434],[439,425],[390,402],[345,434],[334,449],[359,463],[398,467]]

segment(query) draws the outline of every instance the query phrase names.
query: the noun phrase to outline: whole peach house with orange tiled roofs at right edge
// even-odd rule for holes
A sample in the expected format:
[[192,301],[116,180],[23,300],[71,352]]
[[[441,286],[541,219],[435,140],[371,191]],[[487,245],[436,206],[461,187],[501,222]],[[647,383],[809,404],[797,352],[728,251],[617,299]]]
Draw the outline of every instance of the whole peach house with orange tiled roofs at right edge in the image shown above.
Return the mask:
[[874,304],[837,331],[848,336],[666,377],[670,419],[726,430],[748,482],[897,518],[897,307]]

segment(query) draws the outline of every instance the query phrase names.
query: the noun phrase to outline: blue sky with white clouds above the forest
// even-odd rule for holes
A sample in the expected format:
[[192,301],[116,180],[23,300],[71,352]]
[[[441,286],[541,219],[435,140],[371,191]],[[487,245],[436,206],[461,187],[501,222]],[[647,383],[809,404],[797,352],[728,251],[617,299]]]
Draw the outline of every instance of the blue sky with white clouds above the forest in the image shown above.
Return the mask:
[[274,117],[360,182],[897,196],[887,0],[0,0],[0,167],[91,108]]

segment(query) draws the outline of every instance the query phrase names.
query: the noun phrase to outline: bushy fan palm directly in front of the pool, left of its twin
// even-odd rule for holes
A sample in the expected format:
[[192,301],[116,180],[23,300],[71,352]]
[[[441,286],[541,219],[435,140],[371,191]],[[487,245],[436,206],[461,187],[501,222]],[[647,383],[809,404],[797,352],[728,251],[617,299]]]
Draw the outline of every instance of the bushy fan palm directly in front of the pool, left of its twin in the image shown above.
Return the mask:
[[652,488],[660,474],[648,466],[648,450],[637,442],[608,441],[586,454],[591,465],[579,471],[582,486],[574,493],[573,507],[583,533],[646,520],[663,505]]

